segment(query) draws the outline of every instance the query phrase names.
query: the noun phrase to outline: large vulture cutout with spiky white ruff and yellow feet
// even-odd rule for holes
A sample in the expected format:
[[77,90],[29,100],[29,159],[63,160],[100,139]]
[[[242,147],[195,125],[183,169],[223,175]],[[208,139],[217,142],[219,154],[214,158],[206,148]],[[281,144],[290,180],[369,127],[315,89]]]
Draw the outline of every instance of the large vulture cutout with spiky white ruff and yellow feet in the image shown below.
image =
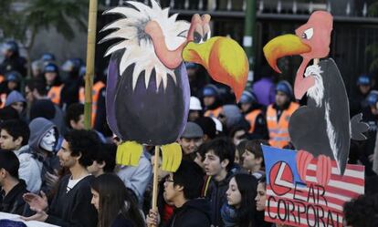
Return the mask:
[[114,29],[102,41],[121,38],[110,46],[107,118],[123,143],[117,162],[137,165],[142,145],[162,146],[163,169],[176,170],[189,110],[190,88],[184,61],[206,68],[216,81],[233,88],[238,99],[247,83],[246,54],[236,41],[211,37],[210,15],[177,21],[155,0],[151,5],[127,1],[105,14],[122,18],[102,30]]

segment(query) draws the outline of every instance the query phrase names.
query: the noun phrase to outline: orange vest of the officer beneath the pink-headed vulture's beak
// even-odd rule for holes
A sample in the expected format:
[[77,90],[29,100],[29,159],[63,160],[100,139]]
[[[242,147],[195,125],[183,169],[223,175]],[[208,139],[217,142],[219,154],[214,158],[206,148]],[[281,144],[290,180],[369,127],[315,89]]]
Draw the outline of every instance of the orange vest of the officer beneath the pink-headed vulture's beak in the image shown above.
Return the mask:
[[277,122],[277,110],[273,105],[268,106],[267,124],[269,130],[269,144],[272,147],[283,148],[289,144],[289,119],[295,110],[299,108],[299,104],[291,102],[288,109],[285,109],[279,121]]

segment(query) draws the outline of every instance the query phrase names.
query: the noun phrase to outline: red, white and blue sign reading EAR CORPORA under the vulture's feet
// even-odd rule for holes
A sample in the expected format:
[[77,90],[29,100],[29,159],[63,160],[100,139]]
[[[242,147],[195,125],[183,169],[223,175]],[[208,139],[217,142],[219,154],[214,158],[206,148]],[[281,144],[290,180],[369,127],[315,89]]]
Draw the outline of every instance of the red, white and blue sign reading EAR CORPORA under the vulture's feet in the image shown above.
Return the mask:
[[316,160],[311,160],[306,181],[301,181],[296,150],[262,146],[267,170],[265,220],[289,226],[342,226],[342,207],[363,194],[364,167],[346,166],[341,176],[332,161],[331,180],[322,186],[316,179]]

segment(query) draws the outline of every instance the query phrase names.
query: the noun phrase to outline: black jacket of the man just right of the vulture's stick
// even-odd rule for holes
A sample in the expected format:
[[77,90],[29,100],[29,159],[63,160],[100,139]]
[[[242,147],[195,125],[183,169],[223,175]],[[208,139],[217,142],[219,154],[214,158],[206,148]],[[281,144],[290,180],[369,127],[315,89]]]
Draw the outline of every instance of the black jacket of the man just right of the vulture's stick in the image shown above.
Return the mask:
[[186,201],[176,208],[165,227],[210,227],[210,204],[205,199]]

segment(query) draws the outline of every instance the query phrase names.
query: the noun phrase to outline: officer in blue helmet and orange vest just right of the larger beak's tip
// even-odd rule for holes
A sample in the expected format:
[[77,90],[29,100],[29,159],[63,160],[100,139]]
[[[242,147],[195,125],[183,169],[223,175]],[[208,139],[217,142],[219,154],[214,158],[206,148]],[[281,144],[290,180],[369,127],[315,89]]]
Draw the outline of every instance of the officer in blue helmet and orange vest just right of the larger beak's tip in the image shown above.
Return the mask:
[[257,97],[253,91],[245,90],[240,98],[239,107],[249,123],[249,133],[268,139],[267,120],[261,104],[258,104]]

